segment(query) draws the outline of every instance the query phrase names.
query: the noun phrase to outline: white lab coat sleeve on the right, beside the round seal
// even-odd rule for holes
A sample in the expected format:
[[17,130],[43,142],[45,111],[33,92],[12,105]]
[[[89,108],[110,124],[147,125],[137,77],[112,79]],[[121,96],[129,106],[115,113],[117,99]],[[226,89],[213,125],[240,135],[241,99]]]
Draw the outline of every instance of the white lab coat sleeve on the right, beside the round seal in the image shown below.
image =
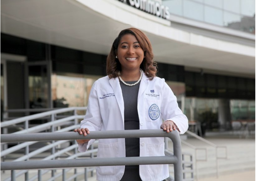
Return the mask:
[[161,114],[163,116],[163,120],[171,120],[176,124],[179,128],[180,134],[185,133],[188,130],[188,118],[184,115],[179,109],[177,98],[173,94],[171,88],[167,85],[163,80],[163,97],[161,104]]

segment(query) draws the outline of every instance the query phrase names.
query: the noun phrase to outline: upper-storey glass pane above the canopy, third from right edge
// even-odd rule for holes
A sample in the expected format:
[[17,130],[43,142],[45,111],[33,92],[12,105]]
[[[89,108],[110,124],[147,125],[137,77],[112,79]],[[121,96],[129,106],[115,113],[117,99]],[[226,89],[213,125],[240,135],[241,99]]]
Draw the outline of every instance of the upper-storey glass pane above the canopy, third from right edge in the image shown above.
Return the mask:
[[204,21],[207,23],[223,26],[223,11],[213,7],[204,7]]

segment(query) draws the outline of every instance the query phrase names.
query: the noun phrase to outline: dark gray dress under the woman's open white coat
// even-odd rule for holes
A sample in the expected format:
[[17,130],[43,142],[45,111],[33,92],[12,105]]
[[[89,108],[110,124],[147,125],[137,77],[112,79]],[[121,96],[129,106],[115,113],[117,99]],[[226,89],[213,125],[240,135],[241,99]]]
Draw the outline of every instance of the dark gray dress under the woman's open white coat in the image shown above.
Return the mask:
[[[137,81],[129,81],[132,84]],[[137,99],[140,83],[135,86],[126,86],[120,81],[122,95],[124,98],[124,127],[125,130],[139,130],[140,120],[137,110]],[[126,157],[140,156],[140,138],[125,138]],[[125,166],[124,176],[121,181],[141,181],[139,165]]]

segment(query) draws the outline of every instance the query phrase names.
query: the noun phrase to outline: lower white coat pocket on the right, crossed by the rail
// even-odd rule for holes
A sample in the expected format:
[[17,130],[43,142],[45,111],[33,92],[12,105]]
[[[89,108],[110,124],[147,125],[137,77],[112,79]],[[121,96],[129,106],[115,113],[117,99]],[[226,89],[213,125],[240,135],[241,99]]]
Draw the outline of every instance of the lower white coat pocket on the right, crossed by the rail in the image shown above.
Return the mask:
[[[164,156],[164,143],[147,144],[147,156]],[[157,175],[160,174],[163,165],[147,165],[147,169],[151,175]]]

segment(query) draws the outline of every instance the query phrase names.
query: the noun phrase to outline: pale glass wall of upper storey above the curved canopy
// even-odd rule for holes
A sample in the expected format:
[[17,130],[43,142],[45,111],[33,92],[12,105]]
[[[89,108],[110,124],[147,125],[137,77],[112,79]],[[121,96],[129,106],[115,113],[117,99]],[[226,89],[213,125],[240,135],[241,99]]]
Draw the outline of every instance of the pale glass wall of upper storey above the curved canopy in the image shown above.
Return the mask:
[[255,0],[163,0],[173,15],[255,34]]

